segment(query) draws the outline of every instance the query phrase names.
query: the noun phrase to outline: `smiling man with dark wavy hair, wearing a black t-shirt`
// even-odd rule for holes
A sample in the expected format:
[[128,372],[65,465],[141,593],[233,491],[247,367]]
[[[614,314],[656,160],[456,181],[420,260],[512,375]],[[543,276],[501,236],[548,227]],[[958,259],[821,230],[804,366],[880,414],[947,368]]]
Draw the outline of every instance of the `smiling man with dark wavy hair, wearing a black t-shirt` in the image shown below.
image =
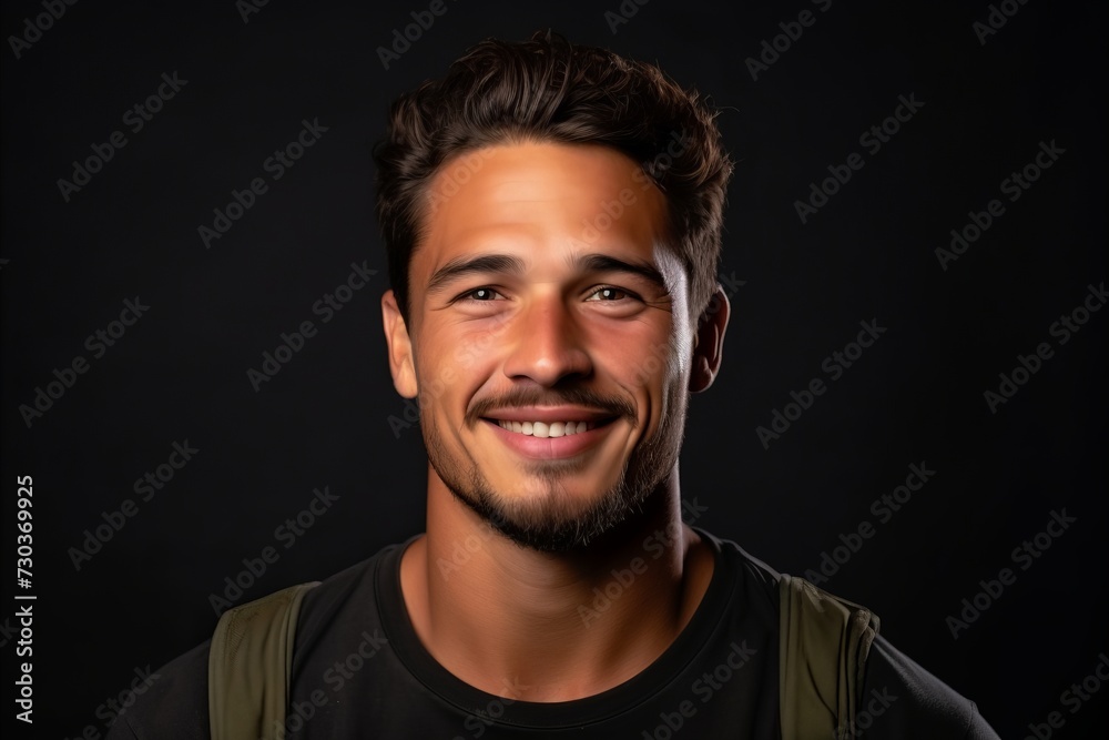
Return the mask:
[[[732,164],[695,94],[557,36],[487,41],[397,101],[377,159],[427,531],[303,597],[265,737],[996,738],[865,610],[682,523],[688,394],[729,317]],[[783,657],[808,601],[853,640],[820,701],[796,692],[820,667]],[[208,737],[208,659],[110,737]]]

